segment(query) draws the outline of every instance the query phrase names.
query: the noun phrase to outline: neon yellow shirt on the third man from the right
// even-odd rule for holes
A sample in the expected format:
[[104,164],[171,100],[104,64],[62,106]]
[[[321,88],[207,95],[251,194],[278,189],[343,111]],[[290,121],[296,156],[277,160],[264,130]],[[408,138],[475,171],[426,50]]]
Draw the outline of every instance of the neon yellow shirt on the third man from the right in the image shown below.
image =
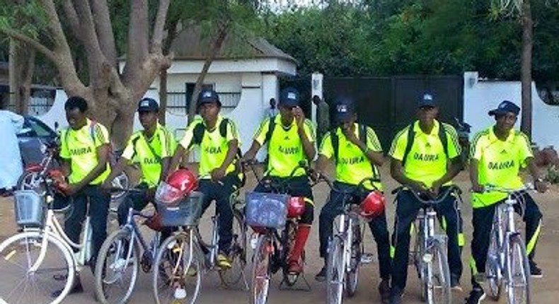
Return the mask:
[[[361,151],[361,149],[353,144],[351,141],[347,140],[342,132],[342,129],[338,127],[336,129],[336,134],[338,135],[338,158],[339,162],[336,163],[336,180],[338,182],[345,182],[350,185],[357,185],[364,177],[374,177],[379,169],[376,165],[371,163],[367,156]],[[355,136],[359,139],[359,124],[355,124]],[[367,127],[367,147],[374,152],[382,152],[381,143],[376,137],[376,133],[370,127]],[[320,154],[326,158],[333,158],[335,156],[334,148],[332,146],[332,137],[330,132],[327,132],[321,143]],[[334,160],[337,161],[337,160]],[[373,172],[374,166],[374,172]],[[380,176],[377,176],[380,178]],[[365,185],[367,187],[367,185]],[[370,185],[369,185],[370,186]],[[375,182],[374,187],[376,189],[382,190],[382,185],[380,182]],[[371,187],[367,187],[371,188]]]

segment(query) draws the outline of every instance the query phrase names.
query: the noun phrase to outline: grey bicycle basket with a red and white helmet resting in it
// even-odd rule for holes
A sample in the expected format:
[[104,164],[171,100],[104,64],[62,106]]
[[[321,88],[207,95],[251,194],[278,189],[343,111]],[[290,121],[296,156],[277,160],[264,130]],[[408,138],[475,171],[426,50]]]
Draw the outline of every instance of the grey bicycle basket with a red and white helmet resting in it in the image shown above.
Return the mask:
[[188,197],[180,201],[177,206],[169,206],[157,202],[157,212],[161,214],[161,226],[196,226],[202,216],[202,192],[190,192]]

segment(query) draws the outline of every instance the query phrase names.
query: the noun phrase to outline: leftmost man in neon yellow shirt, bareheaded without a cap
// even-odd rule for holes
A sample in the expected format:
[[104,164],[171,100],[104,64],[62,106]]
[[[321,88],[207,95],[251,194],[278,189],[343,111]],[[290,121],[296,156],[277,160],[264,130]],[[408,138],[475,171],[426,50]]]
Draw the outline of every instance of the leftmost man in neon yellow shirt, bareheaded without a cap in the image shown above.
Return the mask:
[[[107,238],[110,194],[100,189],[100,185],[110,172],[107,163],[109,133],[103,124],[86,117],[88,105],[85,99],[77,96],[68,98],[64,110],[69,128],[62,130],[60,134],[60,158],[62,171],[69,181],[65,194],[74,206],[74,211],[64,225],[64,232],[72,242],[79,243],[83,220],[89,210],[93,235],[89,263],[94,268],[99,249]],[[80,291],[83,289],[78,276],[71,292]]]

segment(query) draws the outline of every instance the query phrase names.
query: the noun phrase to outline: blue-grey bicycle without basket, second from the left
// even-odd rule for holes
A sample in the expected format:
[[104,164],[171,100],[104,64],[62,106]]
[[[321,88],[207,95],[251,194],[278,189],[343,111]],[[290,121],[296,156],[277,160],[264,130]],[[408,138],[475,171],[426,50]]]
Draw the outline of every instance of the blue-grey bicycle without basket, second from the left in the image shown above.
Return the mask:
[[[113,188],[111,190],[139,194],[146,192],[146,189]],[[116,212],[116,210],[111,211]],[[159,250],[161,232],[157,230],[148,245],[139,230],[137,219],[143,218],[146,221],[142,224],[150,226],[150,221],[156,221],[155,216],[155,214],[146,214],[130,207],[126,222],[118,230],[108,235],[101,245],[95,266],[95,292],[100,303],[127,303],[134,291],[139,267],[144,273],[151,271]],[[125,281],[128,269],[132,271],[129,283]],[[122,297],[113,296],[111,293],[113,290],[116,290],[117,293],[122,290],[124,295]]]

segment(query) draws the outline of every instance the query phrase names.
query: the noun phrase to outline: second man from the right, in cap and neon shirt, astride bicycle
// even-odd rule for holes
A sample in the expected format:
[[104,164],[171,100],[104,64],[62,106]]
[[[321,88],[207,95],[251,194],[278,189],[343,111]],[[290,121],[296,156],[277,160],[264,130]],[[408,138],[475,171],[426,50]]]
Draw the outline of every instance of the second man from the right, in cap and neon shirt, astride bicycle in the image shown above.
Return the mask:
[[[392,243],[395,246],[392,267],[391,304],[401,301],[408,276],[410,227],[422,206],[411,191],[426,198],[443,193],[461,168],[460,145],[456,130],[439,122],[439,112],[433,95],[424,94],[419,100],[418,119],[396,134],[390,152],[391,175],[407,189],[396,200],[396,220]],[[462,274],[461,218],[456,197],[449,196],[436,207],[448,236],[448,257],[451,287],[460,289]],[[462,239],[462,240],[461,240]]]

